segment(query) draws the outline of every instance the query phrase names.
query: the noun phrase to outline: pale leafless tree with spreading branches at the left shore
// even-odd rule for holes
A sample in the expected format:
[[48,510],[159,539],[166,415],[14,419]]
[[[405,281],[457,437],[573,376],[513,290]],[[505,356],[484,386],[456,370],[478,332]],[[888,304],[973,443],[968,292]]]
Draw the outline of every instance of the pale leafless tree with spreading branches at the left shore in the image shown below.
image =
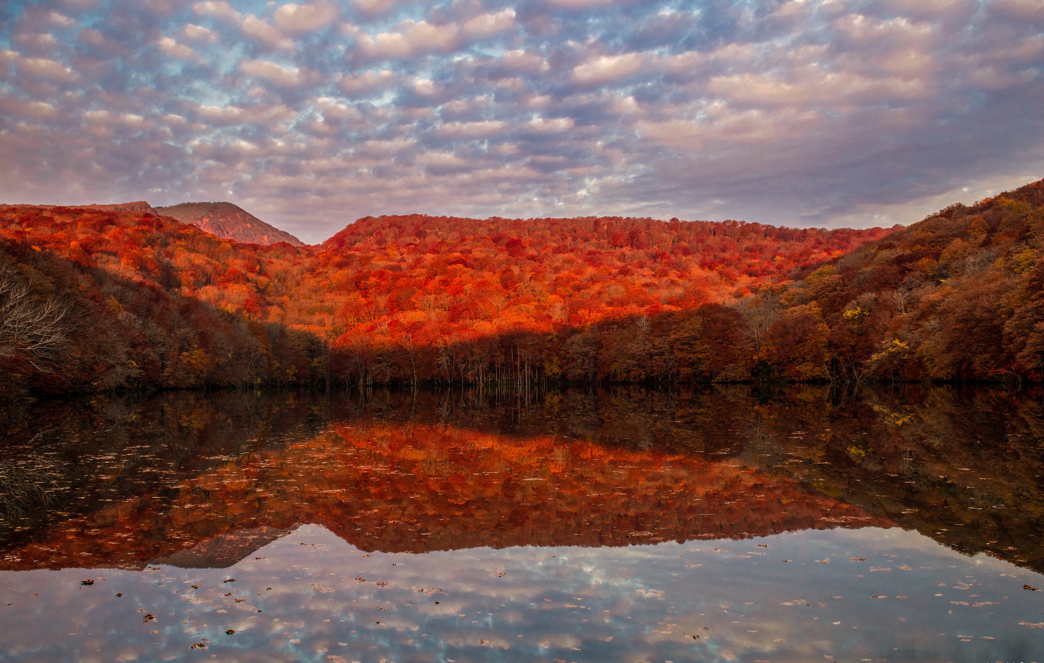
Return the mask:
[[54,298],[33,297],[22,275],[0,263],[0,358],[20,358],[49,372],[46,363],[57,359],[66,345],[65,314]]

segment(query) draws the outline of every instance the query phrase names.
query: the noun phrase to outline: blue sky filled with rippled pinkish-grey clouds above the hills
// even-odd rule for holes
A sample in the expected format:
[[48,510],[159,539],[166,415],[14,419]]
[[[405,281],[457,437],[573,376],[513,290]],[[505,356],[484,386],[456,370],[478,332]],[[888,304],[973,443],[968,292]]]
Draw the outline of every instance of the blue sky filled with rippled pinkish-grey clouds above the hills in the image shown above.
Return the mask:
[[1044,0],[0,3],[0,203],[908,223],[1044,176]]

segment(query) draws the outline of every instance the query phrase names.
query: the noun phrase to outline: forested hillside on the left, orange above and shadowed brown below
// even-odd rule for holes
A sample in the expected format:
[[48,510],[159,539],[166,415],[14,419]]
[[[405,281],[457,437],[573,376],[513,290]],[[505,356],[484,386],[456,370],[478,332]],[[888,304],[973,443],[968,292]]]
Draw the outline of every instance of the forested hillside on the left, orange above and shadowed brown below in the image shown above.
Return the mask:
[[313,378],[325,345],[258,304],[300,256],[260,250],[148,213],[0,208],[0,400]]

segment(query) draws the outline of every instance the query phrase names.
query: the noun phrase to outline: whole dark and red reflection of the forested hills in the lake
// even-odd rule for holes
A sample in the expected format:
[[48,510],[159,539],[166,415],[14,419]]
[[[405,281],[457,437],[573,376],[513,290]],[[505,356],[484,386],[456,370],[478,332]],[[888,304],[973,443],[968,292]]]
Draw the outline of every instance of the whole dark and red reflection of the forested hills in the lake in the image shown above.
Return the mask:
[[303,522],[412,551],[891,523],[1040,569],[1040,410],[920,387],[45,404],[0,457],[0,566],[222,565]]

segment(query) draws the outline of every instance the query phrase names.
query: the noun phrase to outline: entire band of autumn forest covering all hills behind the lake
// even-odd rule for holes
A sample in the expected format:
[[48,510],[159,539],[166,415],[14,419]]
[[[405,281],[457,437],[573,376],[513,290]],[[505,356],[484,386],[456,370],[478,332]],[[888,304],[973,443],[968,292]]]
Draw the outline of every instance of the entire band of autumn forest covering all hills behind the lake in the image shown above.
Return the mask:
[[408,215],[295,246],[153,212],[0,207],[0,398],[1044,377],[1044,181],[886,230]]

